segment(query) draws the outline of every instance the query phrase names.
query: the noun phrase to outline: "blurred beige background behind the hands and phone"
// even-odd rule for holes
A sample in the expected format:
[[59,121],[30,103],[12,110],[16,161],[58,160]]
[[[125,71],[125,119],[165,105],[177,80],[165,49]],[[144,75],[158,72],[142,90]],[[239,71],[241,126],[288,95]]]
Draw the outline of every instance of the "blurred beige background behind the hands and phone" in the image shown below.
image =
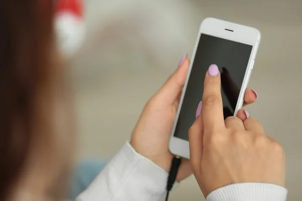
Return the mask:
[[[110,159],[129,139],[147,99],[192,54],[206,17],[262,33],[247,109],[286,153],[288,200],[302,191],[302,1],[86,1],[87,40],[71,61],[79,120],[78,159]],[[171,200],[204,200],[193,177]]]

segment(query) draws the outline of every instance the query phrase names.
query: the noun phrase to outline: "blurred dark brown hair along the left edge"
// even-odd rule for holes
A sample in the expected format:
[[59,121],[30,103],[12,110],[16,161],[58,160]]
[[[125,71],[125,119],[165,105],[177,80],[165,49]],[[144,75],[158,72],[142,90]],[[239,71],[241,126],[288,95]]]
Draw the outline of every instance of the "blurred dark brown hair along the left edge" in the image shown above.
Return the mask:
[[52,62],[52,0],[0,1],[0,200],[18,181]]

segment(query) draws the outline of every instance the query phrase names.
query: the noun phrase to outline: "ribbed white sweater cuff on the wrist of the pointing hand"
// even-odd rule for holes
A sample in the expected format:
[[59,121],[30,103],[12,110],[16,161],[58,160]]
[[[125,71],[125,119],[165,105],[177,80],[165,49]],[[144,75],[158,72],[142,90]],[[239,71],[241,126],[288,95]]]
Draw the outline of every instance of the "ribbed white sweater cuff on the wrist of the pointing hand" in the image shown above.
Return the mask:
[[207,201],[285,201],[284,187],[267,183],[238,183],[211,192]]

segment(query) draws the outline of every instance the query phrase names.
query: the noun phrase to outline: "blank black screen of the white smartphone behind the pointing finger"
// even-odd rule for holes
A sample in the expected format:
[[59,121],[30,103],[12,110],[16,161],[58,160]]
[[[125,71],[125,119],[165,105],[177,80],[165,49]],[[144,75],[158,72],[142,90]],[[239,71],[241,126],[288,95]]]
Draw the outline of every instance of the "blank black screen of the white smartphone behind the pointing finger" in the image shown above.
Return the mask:
[[253,46],[201,34],[174,137],[188,139],[202,100],[205,73],[216,64],[221,74],[224,119],[233,116]]

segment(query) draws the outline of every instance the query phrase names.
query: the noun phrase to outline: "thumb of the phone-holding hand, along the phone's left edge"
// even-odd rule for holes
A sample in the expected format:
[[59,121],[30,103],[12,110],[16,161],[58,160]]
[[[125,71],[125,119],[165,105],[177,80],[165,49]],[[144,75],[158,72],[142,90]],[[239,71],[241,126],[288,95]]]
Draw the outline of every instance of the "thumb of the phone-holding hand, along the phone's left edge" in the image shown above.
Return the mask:
[[[190,61],[184,55],[179,68],[168,78],[157,94],[163,103],[173,104],[179,99],[179,94],[185,84]],[[179,100],[178,100],[179,101]]]

